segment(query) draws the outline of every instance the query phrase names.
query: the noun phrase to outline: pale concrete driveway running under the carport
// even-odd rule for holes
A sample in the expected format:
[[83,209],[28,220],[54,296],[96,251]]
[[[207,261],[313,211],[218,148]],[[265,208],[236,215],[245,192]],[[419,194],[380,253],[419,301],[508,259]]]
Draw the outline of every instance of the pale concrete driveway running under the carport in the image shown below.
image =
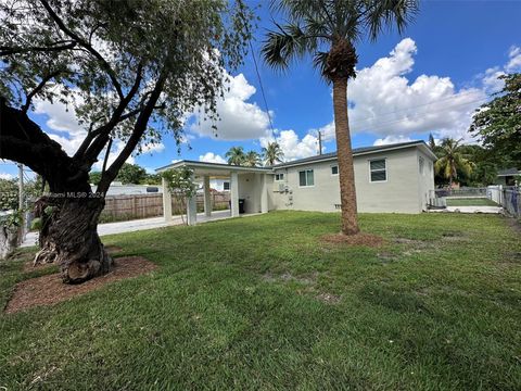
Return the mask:
[[[206,217],[204,213],[198,213],[198,224],[219,220],[224,218],[230,218],[231,212],[226,211],[216,211],[212,212],[211,217]],[[187,217],[185,216],[185,222]],[[152,217],[152,218],[141,218],[137,220],[129,222],[117,222],[117,223],[106,223],[100,224],[98,226],[98,234],[102,237],[105,235],[114,234],[124,234],[124,232],[134,232],[143,229],[153,229],[153,228],[163,228],[168,226],[181,225],[181,216],[171,216],[170,222],[165,222],[164,217]],[[21,247],[31,247],[38,242],[38,232],[28,232],[25,236],[25,240]]]

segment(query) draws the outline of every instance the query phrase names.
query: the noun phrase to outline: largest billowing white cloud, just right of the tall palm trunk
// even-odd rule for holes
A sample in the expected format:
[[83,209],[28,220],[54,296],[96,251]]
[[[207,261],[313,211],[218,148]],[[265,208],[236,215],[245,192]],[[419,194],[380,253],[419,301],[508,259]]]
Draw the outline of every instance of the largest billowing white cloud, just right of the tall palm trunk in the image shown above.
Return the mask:
[[372,66],[359,70],[350,85],[353,133],[407,139],[412,134],[467,136],[470,118],[486,94],[479,88],[457,90],[449,77],[420,75],[409,80],[417,47],[405,38]]

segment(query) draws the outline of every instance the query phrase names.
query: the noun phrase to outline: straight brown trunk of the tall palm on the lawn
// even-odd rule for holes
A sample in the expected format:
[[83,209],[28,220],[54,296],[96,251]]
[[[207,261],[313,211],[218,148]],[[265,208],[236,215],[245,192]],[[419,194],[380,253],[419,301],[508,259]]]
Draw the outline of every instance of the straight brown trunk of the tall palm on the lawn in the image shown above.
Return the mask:
[[356,215],[355,171],[351,149],[350,121],[347,117],[347,78],[333,80],[334,133],[339,161],[340,200],[342,206],[342,234],[358,234]]

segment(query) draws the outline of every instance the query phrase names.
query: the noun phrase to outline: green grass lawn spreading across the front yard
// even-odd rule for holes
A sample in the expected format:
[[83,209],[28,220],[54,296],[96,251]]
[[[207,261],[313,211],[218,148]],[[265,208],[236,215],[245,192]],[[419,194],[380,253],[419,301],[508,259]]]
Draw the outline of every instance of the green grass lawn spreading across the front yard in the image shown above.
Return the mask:
[[[0,314],[8,390],[520,390],[521,240],[500,216],[275,212],[105,238],[160,268]],[[0,264],[3,306],[23,274]]]

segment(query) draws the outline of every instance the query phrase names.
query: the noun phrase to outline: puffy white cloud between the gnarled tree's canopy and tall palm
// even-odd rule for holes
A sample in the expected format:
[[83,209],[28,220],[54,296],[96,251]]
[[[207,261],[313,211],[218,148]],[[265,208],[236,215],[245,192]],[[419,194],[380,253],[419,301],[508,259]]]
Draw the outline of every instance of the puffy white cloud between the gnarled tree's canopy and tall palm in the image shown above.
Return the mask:
[[[200,136],[221,140],[249,140],[263,137],[268,128],[269,118],[256,103],[247,102],[255,91],[255,87],[247,83],[243,74],[229,76],[229,90],[225,92],[225,98],[217,102],[220,119],[213,123],[195,114],[195,122],[190,130]],[[216,135],[212,125],[217,126]]]

